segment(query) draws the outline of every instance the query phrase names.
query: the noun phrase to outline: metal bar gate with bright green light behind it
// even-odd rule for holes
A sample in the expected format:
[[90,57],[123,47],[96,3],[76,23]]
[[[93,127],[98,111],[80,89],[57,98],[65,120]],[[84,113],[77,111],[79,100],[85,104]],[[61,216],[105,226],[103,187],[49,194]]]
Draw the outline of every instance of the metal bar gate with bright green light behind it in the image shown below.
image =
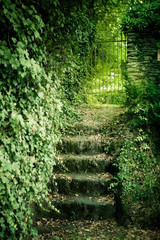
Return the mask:
[[86,59],[86,94],[101,103],[121,103],[126,58],[127,39],[122,32],[98,38]]

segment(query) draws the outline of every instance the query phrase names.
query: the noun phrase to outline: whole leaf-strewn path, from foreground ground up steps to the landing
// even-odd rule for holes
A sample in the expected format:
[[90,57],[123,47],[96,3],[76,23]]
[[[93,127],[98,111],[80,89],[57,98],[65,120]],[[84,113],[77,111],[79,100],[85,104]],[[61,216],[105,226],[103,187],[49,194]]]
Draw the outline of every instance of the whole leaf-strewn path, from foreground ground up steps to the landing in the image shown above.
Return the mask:
[[62,137],[51,181],[50,198],[60,213],[52,209],[38,211],[37,224],[42,234],[38,239],[158,239],[157,231],[119,226],[115,219],[115,199],[109,190],[114,159],[105,154],[107,136],[104,139],[103,129],[118,118],[122,108],[102,105],[79,110],[82,121],[71,125]]

